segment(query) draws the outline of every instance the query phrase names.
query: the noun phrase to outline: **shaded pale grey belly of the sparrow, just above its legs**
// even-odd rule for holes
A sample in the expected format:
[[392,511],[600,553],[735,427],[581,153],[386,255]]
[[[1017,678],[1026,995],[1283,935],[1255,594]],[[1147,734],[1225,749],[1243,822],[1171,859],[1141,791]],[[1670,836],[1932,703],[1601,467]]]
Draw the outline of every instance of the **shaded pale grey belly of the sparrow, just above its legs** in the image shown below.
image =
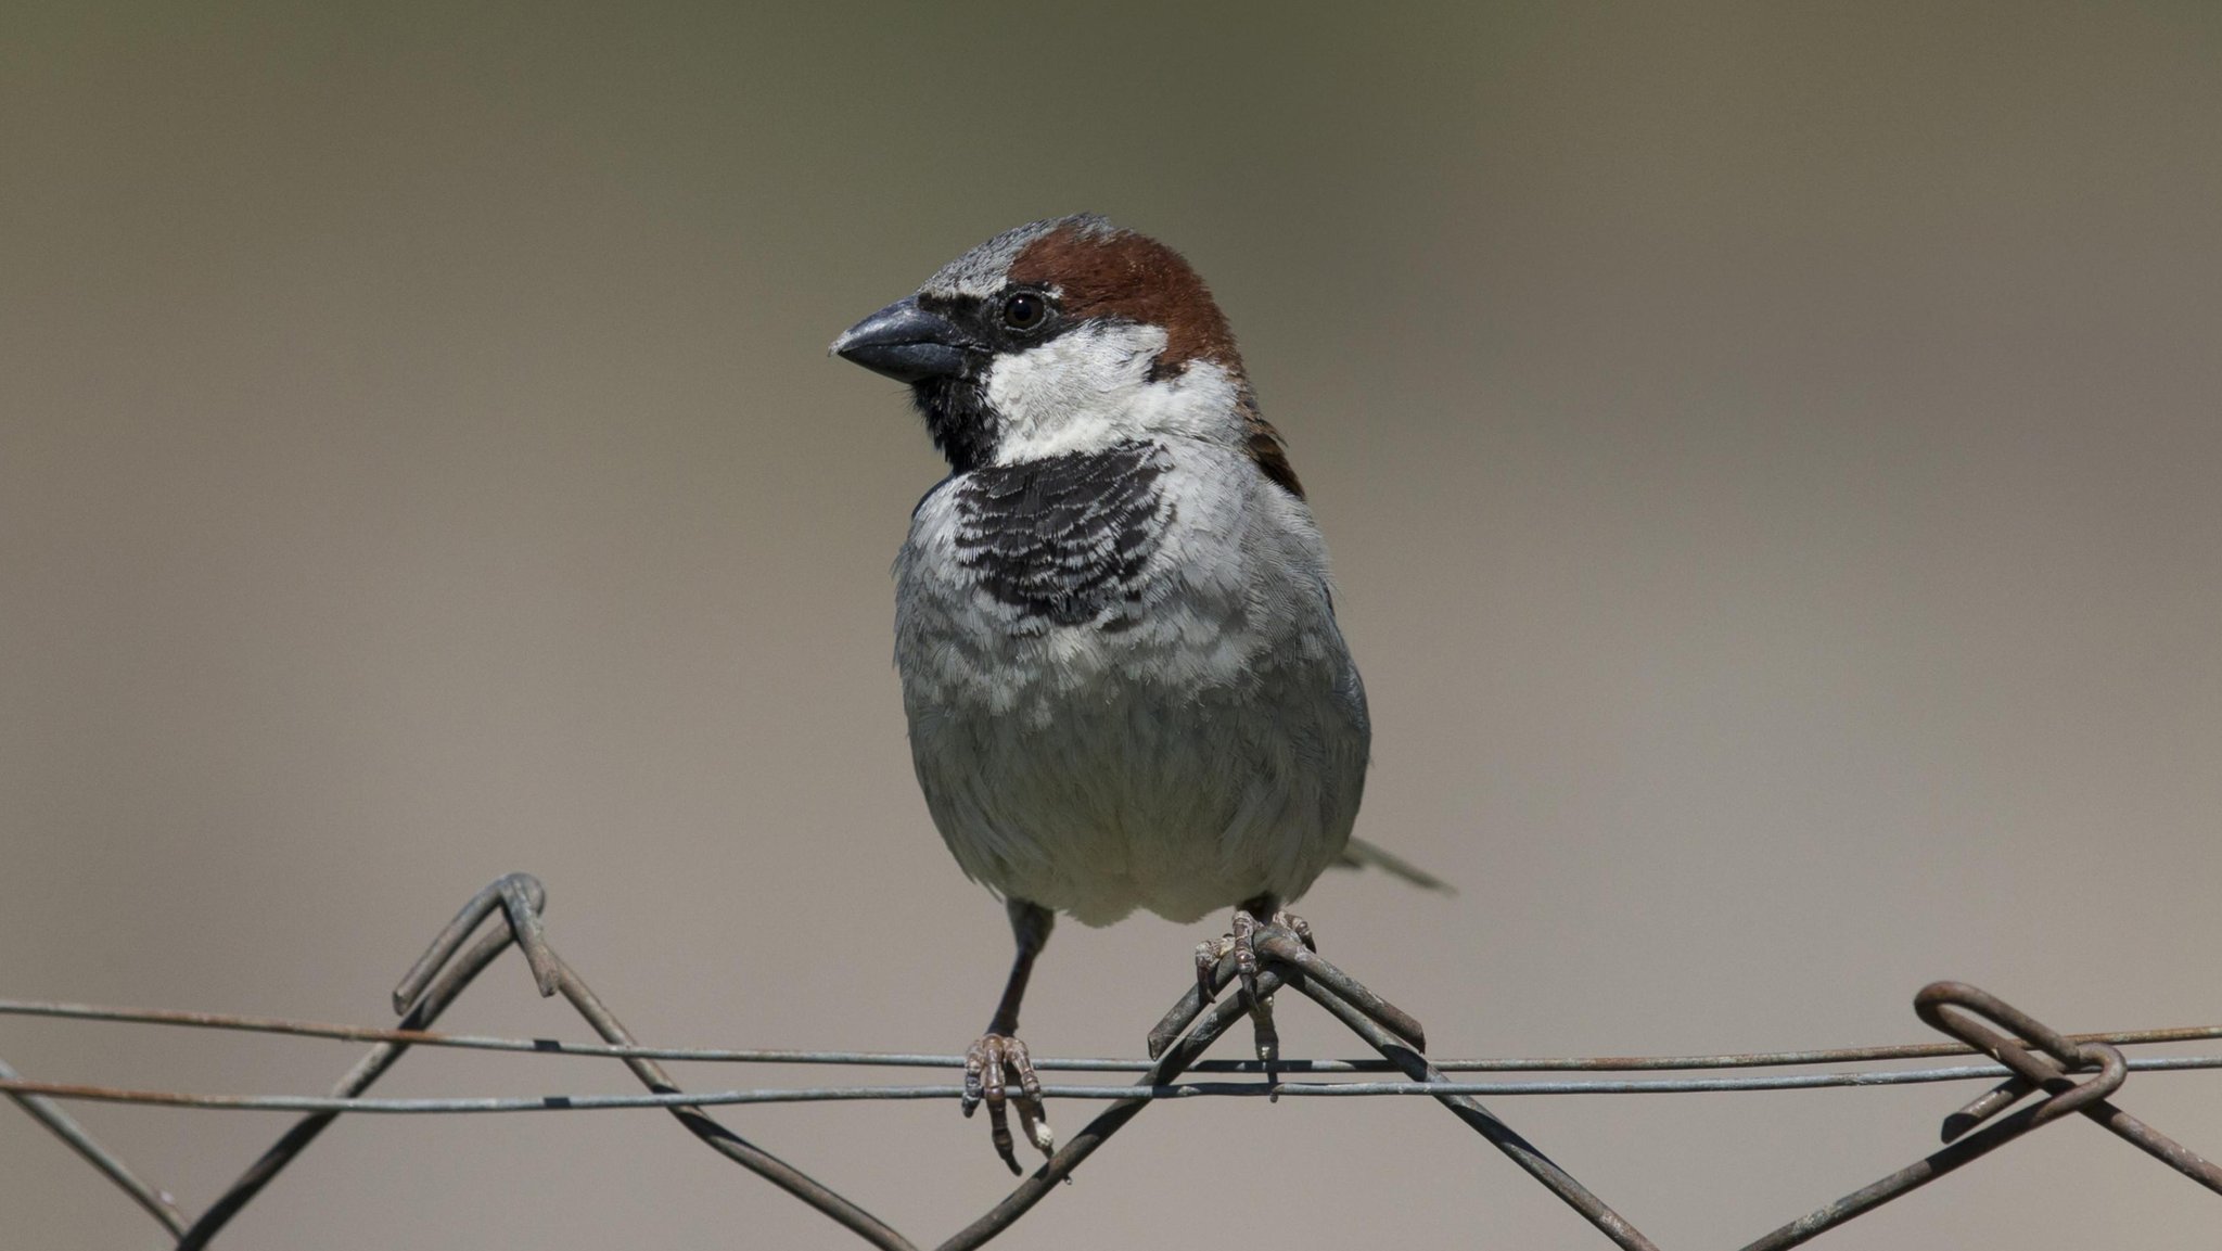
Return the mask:
[[927,807],[969,875],[1087,924],[1135,907],[1187,922],[1293,900],[1342,851],[1367,742],[1324,658],[1195,687],[1091,640],[1040,642],[909,700]]

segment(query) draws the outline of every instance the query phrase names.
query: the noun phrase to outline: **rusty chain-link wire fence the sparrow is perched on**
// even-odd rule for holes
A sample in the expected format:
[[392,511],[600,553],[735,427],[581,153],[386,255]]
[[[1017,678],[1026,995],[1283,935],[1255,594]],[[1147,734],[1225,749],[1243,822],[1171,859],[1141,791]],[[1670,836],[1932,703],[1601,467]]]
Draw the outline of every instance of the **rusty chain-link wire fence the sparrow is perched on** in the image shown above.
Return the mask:
[[[251,1018],[164,1009],[118,1009],[69,1002],[0,1000],[0,1015],[40,1015],[96,1020],[118,1024],[164,1024],[189,1029],[227,1029],[371,1042],[371,1051],[340,1078],[329,1095],[216,1095],[178,1091],[131,1091],[67,1082],[29,1080],[0,1062],[0,1093],[7,1093],[33,1120],[53,1131],[78,1155],[107,1175],[153,1220],[182,1251],[209,1247],[224,1224],[284,1171],[333,1120],[349,1113],[387,1115],[458,1115],[458,1113],[527,1113],[527,1111],[611,1111],[664,1109],[704,1147],[753,1171],[767,1182],[818,1209],[873,1247],[915,1251],[915,1244],[849,1198],[824,1187],[778,1155],[742,1140],[711,1118],[709,1107],[844,1102],[844,1100],[960,1100],[964,1087],[949,1084],[844,1084],[844,1087],[775,1087],[729,1091],[682,1091],[662,1062],[727,1064],[827,1064],[875,1069],[962,1069],[962,1055],[878,1053],[878,1051],[744,1051],[711,1047],[642,1047],[602,1004],[584,980],[556,953],[547,940],[542,909],[547,893],[524,873],[511,873],[480,891],[431,949],[402,978],[393,993],[400,1024],[393,1029],[329,1024],[307,1020]],[[484,922],[496,924],[471,938]],[[558,1042],[544,1038],[489,1038],[440,1033],[431,1024],[462,991],[509,947],[524,953],[542,995],[562,995],[602,1042]],[[2222,1167],[2200,1158],[2158,1129],[2144,1124],[2111,1102],[2133,1071],[2222,1069],[2222,1055],[2144,1055],[2124,1058],[2122,1047],[2162,1042],[2222,1040],[2222,1024],[2184,1029],[2144,1029],[2118,1033],[2062,1035],[2029,1013],[1962,982],[1933,982],[1913,998],[1922,1022],[1953,1042],[1898,1047],[1840,1047],[1824,1051],[1766,1051],[1731,1055],[1607,1055],[1607,1058],[1493,1058],[1429,1060],[1422,1033],[1411,1015],[1380,1000],[1311,951],[1295,933],[1267,927],[1258,940],[1258,993],[1271,998],[1291,989],[1313,1000],[1375,1051],[1373,1060],[1204,1060],[1202,1053],[1244,1015],[1253,1013],[1249,993],[1207,995],[1191,987],[1151,1031],[1153,1060],[1122,1058],[1040,1058],[1038,1071],[1071,1073],[1140,1073],[1127,1084],[1082,1082],[1042,1084],[1042,1098],[1107,1100],[1078,1135],[993,1209],[942,1240],[940,1251],[980,1247],[1009,1229],[1051,1189],[1071,1175],[1098,1147],[1158,1100],[1184,1098],[1431,1098],[1467,1122],[1515,1167],[1542,1182],[1567,1207],[1589,1220],[1598,1233],[1627,1251],[1655,1251],[1620,1213],[1560,1169],[1535,1144],[1484,1109],[1478,1095],[1629,1095],[1629,1093],[1711,1093],[1711,1091],[1791,1091],[1818,1087],[1898,1087],[1920,1082],[1991,1082],[1991,1087],[1944,1118],[1944,1147],[1904,1169],[1860,1187],[1844,1198],[1802,1215],[1742,1251],[1782,1251],[1829,1229],[1869,1213],[1918,1187],[1924,1187],[1962,1164],[1986,1155],[2006,1142],[2080,1113],[2124,1142],[2142,1149],[2184,1178],[2222,1193]],[[1233,955],[1213,971],[1213,991],[1235,980]],[[642,1082],[640,1095],[536,1095],[536,1098],[371,1098],[364,1091],[411,1047],[451,1047],[471,1051],[513,1051],[531,1055],[600,1055],[624,1062]],[[1986,1055],[1991,1062],[1953,1062],[1924,1069],[1875,1069],[1882,1062],[1946,1060]],[[1820,1073],[1718,1075],[1735,1069],[1813,1069]],[[1846,1069],[1846,1064],[1853,1064]],[[1529,1080],[1453,1080],[1451,1073],[1660,1073],[1713,1071],[1711,1075],[1669,1078],[1529,1078]],[[1351,1075],[1398,1073],[1402,1080],[1349,1080]],[[1224,1075],[1195,1080],[1195,1075]],[[1247,1078],[1247,1080],[1238,1080]],[[1291,1080],[1295,1078],[1295,1080]],[[1327,1080],[1320,1080],[1327,1078]],[[304,1113],[293,1122],[222,1195],[200,1215],[184,1209],[162,1189],[142,1180],[129,1164],[98,1140],[64,1109],[64,1100],[131,1102],[187,1109],[244,1109]]]

